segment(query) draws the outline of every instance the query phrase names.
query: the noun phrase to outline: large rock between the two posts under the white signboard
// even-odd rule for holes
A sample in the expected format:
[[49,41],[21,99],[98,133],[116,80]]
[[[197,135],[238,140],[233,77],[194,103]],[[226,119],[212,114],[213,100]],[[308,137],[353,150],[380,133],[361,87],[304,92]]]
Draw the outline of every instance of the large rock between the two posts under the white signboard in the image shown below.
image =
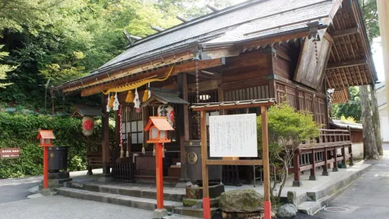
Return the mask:
[[224,212],[253,213],[263,211],[263,196],[253,189],[223,192],[219,199]]

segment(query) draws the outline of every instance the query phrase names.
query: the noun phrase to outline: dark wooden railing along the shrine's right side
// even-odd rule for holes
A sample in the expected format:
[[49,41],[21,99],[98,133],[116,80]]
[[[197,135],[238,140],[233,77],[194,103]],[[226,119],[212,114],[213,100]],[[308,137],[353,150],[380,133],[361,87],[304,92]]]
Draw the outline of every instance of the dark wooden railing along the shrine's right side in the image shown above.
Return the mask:
[[[310,170],[310,180],[316,180],[316,167],[323,167],[323,176],[328,176],[328,169],[333,165],[333,172],[337,172],[337,163],[342,161],[342,168],[352,162],[352,142],[349,130],[319,129],[320,135],[314,143],[301,143],[294,154],[292,167],[289,172],[294,173],[294,187],[301,186],[300,172]],[[346,151],[348,148],[348,151]],[[340,149],[341,155],[337,150]]]

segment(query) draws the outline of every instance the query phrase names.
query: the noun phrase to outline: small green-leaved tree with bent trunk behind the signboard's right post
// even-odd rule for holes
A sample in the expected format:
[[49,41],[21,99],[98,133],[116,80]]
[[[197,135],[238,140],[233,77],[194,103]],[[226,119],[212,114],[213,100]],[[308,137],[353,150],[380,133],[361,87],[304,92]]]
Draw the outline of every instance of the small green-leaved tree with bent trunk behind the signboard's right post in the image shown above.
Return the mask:
[[[262,118],[257,119],[258,124],[258,150],[262,152]],[[275,168],[276,176],[280,178],[278,194],[277,180],[273,181],[270,188],[270,196],[273,203],[280,203],[282,189],[287,181],[288,167],[290,166],[294,152],[301,142],[310,142],[318,136],[318,126],[313,122],[311,114],[296,112],[293,107],[282,102],[268,110],[268,140],[270,166]]]

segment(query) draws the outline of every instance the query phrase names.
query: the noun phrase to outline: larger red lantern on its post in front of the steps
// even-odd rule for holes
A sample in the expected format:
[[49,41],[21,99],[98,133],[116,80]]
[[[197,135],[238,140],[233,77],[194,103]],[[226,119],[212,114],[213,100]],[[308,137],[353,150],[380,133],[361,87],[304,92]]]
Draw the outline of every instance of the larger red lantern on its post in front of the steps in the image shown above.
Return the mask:
[[167,138],[167,132],[174,130],[167,122],[166,117],[150,117],[148,124],[143,131],[149,132],[149,140],[147,143],[155,143],[155,173],[157,184],[157,209],[155,209],[152,218],[163,218],[167,215],[167,210],[163,205],[163,165],[162,165],[162,150],[163,143],[169,143],[172,140]]

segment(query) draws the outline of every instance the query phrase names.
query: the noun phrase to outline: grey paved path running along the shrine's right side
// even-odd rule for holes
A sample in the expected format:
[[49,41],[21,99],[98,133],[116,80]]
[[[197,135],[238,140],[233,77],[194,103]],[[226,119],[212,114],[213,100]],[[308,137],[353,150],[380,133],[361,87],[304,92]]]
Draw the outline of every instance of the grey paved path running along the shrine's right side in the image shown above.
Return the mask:
[[389,218],[388,143],[384,145],[384,150],[383,160],[367,161],[372,167],[328,206],[335,208],[324,209],[316,216],[335,219]]

